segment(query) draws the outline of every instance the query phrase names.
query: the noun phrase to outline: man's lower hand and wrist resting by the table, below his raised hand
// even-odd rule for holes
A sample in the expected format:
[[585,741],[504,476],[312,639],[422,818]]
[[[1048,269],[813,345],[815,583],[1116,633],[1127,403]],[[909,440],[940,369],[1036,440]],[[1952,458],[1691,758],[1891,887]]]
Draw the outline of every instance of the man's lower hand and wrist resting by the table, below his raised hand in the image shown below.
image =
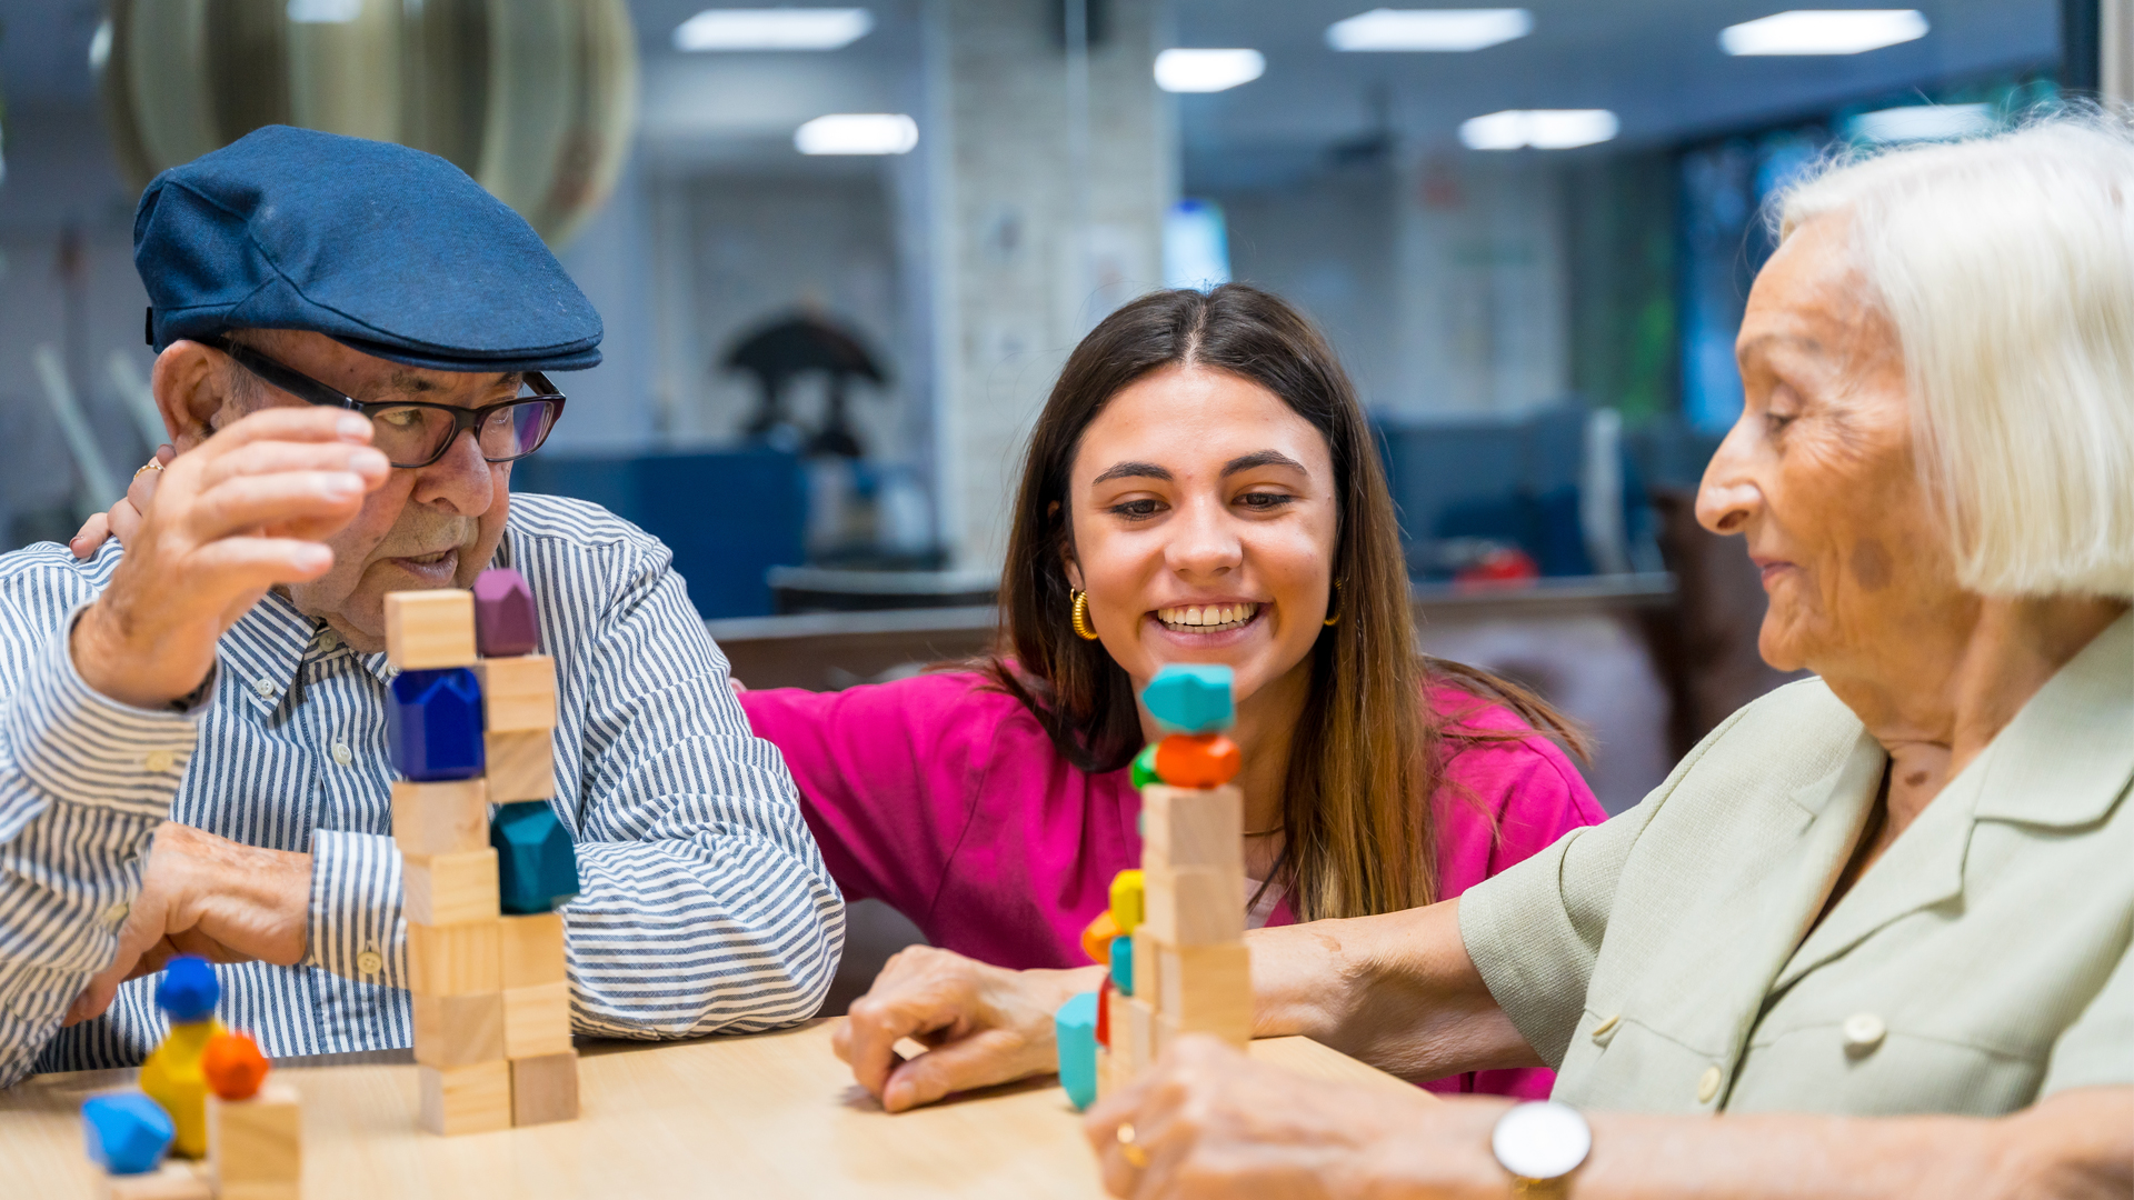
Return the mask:
[[175,954],[211,963],[303,959],[312,914],[312,856],[262,850],[162,822],[147,854],[141,895],[120,927],[120,952],[90,978],[66,1023],[111,1008],[122,982],[152,976]]

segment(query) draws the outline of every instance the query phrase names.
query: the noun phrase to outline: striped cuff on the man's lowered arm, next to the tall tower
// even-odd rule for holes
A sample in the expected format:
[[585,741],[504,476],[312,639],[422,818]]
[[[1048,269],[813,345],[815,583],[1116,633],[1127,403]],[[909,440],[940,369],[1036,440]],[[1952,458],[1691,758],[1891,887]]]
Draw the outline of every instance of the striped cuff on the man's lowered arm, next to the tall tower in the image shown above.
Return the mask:
[[305,965],[408,986],[401,858],[382,833],[312,831],[312,946]]

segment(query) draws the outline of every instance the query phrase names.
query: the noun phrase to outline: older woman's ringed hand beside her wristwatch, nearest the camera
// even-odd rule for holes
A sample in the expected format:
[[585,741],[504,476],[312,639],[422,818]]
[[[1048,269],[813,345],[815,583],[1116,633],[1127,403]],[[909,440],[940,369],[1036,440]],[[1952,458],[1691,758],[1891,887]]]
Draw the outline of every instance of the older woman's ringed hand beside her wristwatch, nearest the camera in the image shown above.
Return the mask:
[[[1502,1200],[1511,1179],[1490,1155],[1490,1130],[1504,1108],[1304,1078],[1189,1036],[1146,1078],[1097,1102],[1082,1132],[1103,1185],[1135,1200]],[[1146,1166],[1129,1162],[1125,1123]]]

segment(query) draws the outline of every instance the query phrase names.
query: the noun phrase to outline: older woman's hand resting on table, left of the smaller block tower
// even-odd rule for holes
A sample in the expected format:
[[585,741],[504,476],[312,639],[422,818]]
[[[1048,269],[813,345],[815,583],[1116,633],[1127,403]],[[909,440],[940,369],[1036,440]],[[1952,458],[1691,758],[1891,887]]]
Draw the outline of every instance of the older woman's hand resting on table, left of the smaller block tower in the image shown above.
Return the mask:
[[[890,1112],[933,1104],[952,1091],[990,1087],[1058,1068],[1052,1014],[1093,991],[1103,967],[1007,972],[952,950],[898,950],[875,986],[851,1001],[830,1036],[851,1076]],[[896,1042],[930,1046],[909,1061]]]

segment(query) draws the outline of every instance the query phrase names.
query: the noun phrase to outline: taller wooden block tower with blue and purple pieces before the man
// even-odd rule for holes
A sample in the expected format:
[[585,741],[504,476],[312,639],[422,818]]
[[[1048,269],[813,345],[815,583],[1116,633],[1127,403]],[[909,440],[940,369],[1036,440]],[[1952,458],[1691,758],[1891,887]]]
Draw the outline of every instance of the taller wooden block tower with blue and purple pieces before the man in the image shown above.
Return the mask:
[[474,591],[386,596],[386,656],[399,668],[386,732],[403,775],[393,841],[433,1134],[578,1115],[555,912],[576,895],[578,865],[548,807],[555,662],[536,647],[534,594],[516,570],[487,570]]

